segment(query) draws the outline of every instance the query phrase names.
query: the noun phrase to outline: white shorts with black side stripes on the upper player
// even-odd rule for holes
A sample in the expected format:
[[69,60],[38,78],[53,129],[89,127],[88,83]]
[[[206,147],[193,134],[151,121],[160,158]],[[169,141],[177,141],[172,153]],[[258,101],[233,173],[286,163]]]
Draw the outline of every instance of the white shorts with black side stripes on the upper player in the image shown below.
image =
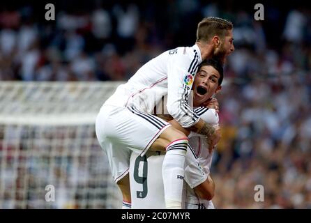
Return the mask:
[[169,126],[161,118],[133,107],[104,105],[100,109],[96,118],[96,136],[107,153],[116,182],[128,174],[131,151],[144,155]]

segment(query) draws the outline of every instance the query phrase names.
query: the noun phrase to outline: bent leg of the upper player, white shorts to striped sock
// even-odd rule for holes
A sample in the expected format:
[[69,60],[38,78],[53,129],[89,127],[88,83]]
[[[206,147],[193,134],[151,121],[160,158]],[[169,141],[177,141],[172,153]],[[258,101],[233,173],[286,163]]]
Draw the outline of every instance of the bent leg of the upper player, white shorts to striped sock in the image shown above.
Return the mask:
[[158,138],[169,141],[165,145],[167,154],[162,167],[167,208],[181,208],[183,167],[188,146],[185,134],[162,119],[132,107],[105,107],[101,117],[102,120],[96,122],[105,126],[98,130],[100,134],[140,155],[144,155]]

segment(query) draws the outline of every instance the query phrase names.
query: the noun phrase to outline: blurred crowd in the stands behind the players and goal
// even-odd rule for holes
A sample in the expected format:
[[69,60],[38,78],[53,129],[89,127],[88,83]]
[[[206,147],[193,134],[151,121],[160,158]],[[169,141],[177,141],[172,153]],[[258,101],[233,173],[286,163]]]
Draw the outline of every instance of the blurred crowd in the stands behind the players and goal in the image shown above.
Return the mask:
[[[49,3],[56,8],[55,21],[44,19],[47,10],[43,3],[1,3],[1,82],[126,81],[161,52],[193,45],[197,23],[203,17],[231,20],[236,50],[228,58],[225,81],[217,95],[222,140],[211,169],[215,207],[311,208],[311,8],[303,1],[261,1],[264,21],[254,19],[257,2],[252,1]],[[1,126],[3,142],[13,133]],[[44,208],[26,203],[19,206],[13,202],[16,194],[6,194],[8,188],[17,190],[19,184],[8,187],[5,179],[10,182],[23,175],[10,175],[8,170],[15,167],[4,164],[10,160],[8,150],[2,143],[2,207]],[[68,158],[66,165],[73,160]],[[86,161],[77,159],[78,164]],[[30,167],[19,168],[27,172]],[[84,182],[88,184],[88,179],[93,180],[91,166],[84,171],[91,173]],[[56,171],[54,178],[58,177],[64,176]],[[66,181],[65,188],[66,183],[70,184]],[[21,190],[29,190],[28,185],[20,185]],[[264,202],[254,201],[255,185],[264,186]],[[30,195],[25,196],[20,199]],[[105,199],[100,193],[94,206],[81,206],[79,193],[74,196],[70,205],[53,208],[107,208],[100,205]]]

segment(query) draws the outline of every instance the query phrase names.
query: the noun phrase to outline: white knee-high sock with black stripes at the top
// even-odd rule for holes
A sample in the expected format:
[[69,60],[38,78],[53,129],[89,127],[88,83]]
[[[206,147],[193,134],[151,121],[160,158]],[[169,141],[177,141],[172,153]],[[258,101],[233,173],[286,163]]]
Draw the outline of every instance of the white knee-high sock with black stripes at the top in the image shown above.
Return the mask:
[[183,196],[183,176],[185,174],[185,153],[188,139],[178,139],[167,146],[163,160],[162,177],[165,206],[168,209],[181,209]]

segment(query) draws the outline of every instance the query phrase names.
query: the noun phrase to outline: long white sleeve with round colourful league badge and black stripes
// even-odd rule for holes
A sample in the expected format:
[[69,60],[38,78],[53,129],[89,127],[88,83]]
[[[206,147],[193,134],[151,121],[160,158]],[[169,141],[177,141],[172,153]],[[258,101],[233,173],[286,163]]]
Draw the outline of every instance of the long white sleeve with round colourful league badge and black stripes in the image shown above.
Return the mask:
[[197,52],[193,56],[183,52],[169,55],[167,111],[183,128],[189,128],[199,121],[199,116],[188,105],[198,65]]

